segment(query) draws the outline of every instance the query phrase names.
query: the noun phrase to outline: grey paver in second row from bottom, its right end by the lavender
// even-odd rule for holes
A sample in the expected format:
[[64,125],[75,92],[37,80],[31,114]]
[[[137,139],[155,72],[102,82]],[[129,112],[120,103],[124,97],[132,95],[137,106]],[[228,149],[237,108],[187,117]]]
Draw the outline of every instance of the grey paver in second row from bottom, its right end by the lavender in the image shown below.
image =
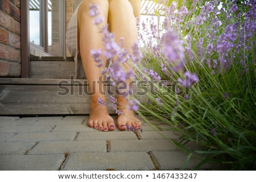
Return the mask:
[[110,140],[110,152],[174,151],[177,147],[167,140]]

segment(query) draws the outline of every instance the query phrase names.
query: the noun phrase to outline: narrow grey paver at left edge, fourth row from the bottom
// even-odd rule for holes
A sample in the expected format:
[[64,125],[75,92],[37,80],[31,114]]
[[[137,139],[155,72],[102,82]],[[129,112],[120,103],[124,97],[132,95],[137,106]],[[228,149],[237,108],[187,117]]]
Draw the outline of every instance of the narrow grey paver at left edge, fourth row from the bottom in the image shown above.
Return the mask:
[[49,132],[55,126],[3,126],[0,128],[0,133],[35,133],[35,132]]

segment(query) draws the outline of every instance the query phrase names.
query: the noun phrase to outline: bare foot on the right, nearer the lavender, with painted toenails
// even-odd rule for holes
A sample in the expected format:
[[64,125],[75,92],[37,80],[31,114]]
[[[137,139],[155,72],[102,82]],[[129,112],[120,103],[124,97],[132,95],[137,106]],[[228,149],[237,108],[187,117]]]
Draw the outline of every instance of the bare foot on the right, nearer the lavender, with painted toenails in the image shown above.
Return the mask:
[[133,110],[122,109],[123,114],[119,114],[117,118],[117,126],[119,130],[126,130],[127,127],[141,129],[141,121],[135,116]]

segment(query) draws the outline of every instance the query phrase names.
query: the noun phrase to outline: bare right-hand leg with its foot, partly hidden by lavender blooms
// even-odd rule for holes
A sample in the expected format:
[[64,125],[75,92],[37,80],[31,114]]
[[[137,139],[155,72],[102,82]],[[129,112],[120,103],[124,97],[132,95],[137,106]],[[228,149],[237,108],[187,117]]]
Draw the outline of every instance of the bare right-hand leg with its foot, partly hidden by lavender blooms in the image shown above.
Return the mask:
[[[138,32],[136,18],[133,14],[133,7],[128,0],[109,0],[109,24],[110,31],[114,32],[116,41],[120,43],[120,38],[125,40],[125,48],[129,53],[132,52],[131,47],[138,41]],[[131,69],[126,65],[126,69]],[[126,80],[129,85],[129,80]],[[129,105],[126,98],[118,96],[119,110],[124,114],[118,115],[117,126],[119,130],[125,130],[127,126],[132,126],[136,129],[141,128],[141,122],[135,117],[132,110],[127,109]]]

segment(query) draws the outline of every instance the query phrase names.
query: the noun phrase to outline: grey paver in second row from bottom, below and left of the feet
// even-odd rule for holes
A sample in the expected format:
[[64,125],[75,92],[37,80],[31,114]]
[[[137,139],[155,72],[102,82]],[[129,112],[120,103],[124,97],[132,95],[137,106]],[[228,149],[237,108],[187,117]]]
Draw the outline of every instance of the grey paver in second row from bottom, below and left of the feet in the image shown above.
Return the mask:
[[39,142],[28,154],[65,154],[67,152],[106,152],[106,141]]

